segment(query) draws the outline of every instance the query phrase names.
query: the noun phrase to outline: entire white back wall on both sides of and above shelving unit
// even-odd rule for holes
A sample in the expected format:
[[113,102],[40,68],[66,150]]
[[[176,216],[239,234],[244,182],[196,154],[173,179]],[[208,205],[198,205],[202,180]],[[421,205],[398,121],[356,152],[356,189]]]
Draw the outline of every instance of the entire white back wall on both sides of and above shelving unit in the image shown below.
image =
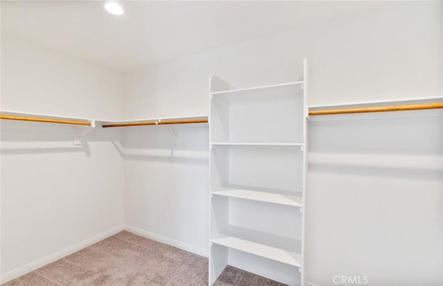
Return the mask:
[[[210,75],[216,74],[235,87],[293,81],[302,75],[302,57],[309,60],[309,105],[441,96],[441,6],[441,2],[393,3],[383,10],[282,31],[127,73],[125,116],[207,114]],[[383,125],[382,132],[375,132],[379,125]],[[334,275],[368,275],[371,285],[443,282],[442,168],[432,165],[443,155],[442,125],[438,119],[369,118],[310,125],[311,148],[317,159],[321,162],[332,156],[338,167],[310,166],[309,282],[332,285]],[[125,144],[143,141],[147,136],[143,132],[127,129]],[[207,140],[201,130],[194,136],[190,135],[192,129],[187,132],[179,135],[181,145]],[[367,138],[368,134],[372,137]],[[414,144],[401,148],[404,142]],[[160,152],[170,150],[171,145],[172,137],[163,137],[154,145],[137,148],[141,153]],[[339,156],[334,157],[341,153],[347,159],[356,154],[357,160],[364,154],[380,160],[396,155],[400,161],[410,161],[417,154],[430,159],[417,161],[414,168],[395,165],[374,170],[359,167],[359,163],[355,168],[341,167]],[[125,160],[125,222],[207,250],[203,240],[190,240],[188,234],[208,233],[208,221],[201,222],[206,204],[160,207],[177,203],[183,186],[191,181],[200,183],[193,188],[194,199],[205,202],[208,182],[199,172],[207,166],[192,163],[192,156],[180,166],[174,159],[162,160]],[[182,172],[188,176],[177,177]],[[171,178],[178,181],[171,184]],[[334,204],[329,204],[332,201]],[[149,218],[153,214],[156,218]],[[188,228],[171,233],[171,220]]]

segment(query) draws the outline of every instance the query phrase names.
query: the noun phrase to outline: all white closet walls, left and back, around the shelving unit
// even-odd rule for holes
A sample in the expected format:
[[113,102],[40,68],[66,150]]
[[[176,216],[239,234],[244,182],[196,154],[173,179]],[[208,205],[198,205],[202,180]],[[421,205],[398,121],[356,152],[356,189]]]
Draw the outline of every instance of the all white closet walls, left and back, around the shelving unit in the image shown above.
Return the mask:
[[[207,114],[210,75],[236,87],[287,82],[301,76],[302,57],[310,105],[441,96],[441,6],[394,3],[123,78],[3,37],[1,109],[110,119]],[[307,280],[442,284],[442,120],[374,118],[310,124]],[[2,275],[123,222],[206,253],[207,127],[180,127],[177,138],[165,126],[132,127],[121,145],[118,131],[97,129],[80,148],[64,125],[1,128]],[[386,164],[368,165],[365,155]],[[417,166],[401,166],[410,161]]]

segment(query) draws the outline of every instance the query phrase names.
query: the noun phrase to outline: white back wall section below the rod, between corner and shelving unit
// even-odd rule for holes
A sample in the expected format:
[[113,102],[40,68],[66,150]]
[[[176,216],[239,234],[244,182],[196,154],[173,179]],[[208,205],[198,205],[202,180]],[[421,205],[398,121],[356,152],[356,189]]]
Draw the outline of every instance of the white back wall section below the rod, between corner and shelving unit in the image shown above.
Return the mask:
[[125,130],[125,223],[141,235],[207,256],[206,124]]

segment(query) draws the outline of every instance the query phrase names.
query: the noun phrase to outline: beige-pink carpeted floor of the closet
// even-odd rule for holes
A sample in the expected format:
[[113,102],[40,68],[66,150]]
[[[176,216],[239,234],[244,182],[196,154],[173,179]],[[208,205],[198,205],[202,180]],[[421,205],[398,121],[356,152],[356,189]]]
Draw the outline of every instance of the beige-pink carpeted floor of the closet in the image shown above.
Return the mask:
[[[206,286],[208,258],[122,231],[3,286]],[[226,267],[215,286],[281,286]]]

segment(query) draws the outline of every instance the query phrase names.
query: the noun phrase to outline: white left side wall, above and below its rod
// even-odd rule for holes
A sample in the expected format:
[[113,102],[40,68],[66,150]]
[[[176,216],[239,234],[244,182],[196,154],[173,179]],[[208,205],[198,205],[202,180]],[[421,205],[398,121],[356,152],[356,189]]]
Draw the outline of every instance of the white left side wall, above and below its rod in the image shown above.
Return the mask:
[[[120,73],[10,37],[2,37],[1,58],[1,109],[121,116]],[[123,159],[113,144],[120,134],[97,128],[74,146],[75,128],[1,121],[3,278],[123,225]]]

